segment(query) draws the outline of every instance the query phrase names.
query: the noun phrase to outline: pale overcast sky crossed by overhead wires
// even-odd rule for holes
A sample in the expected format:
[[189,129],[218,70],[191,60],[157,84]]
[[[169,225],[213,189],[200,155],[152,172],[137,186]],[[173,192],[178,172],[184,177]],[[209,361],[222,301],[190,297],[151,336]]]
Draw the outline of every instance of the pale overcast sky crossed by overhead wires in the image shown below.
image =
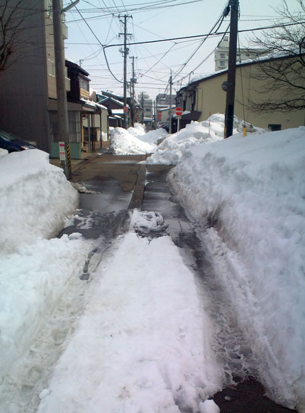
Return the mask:
[[[65,1],[65,5],[68,3],[70,0]],[[89,73],[92,89],[97,92],[111,90],[123,95],[123,84],[118,82],[123,81],[120,46],[105,49],[116,80],[107,68],[101,45],[123,43],[123,36],[119,37],[118,33],[123,33],[121,21],[124,15],[130,16],[127,18],[127,33],[131,33],[128,43],[155,41],[209,33],[227,4],[228,0],[80,0],[77,9],[66,14],[69,29],[69,38],[65,41],[66,57],[75,63],[81,62],[82,68]],[[282,0],[240,0],[238,28],[244,30],[279,23],[282,20],[279,20],[277,10],[282,4]],[[287,0],[287,4],[292,11],[299,9],[296,0]],[[230,16],[223,20],[218,32],[226,31],[229,19]],[[249,45],[251,36],[251,32],[241,33],[240,47]],[[186,85],[189,78],[214,72],[213,52],[221,37],[209,37],[202,45],[203,37],[128,45],[127,80],[132,77],[131,56],[135,56],[137,96],[144,91],[155,99],[158,93],[169,93],[170,70],[174,93],[181,85]]]

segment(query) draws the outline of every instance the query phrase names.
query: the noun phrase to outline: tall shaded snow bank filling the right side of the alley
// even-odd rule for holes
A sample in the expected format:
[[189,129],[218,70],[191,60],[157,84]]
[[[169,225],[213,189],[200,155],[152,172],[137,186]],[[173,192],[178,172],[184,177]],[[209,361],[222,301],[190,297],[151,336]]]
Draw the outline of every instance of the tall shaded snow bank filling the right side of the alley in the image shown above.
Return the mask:
[[216,256],[275,401],[305,411],[305,127],[184,151],[170,183]]

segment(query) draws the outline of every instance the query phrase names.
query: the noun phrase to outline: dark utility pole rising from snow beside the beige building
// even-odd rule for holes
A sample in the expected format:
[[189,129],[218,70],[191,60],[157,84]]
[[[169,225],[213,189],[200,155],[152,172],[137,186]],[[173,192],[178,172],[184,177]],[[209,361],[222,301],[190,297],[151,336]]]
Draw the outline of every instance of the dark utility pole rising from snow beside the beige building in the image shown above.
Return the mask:
[[234,123],[234,100],[235,100],[235,73],[236,73],[236,50],[238,33],[238,0],[231,0],[230,21],[230,43],[228,55],[228,80],[226,95],[226,116],[224,138],[233,135]]

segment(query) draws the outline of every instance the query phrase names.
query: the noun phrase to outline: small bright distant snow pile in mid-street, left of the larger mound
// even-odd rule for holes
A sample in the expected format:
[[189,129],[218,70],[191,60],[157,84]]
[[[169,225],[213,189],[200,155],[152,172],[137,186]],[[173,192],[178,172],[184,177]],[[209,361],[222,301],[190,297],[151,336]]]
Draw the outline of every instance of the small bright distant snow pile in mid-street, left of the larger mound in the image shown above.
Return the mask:
[[167,135],[164,129],[145,133],[144,125],[135,124],[134,128],[113,128],[110,133],[110,149],[116,155],[151,154],[157,141]]

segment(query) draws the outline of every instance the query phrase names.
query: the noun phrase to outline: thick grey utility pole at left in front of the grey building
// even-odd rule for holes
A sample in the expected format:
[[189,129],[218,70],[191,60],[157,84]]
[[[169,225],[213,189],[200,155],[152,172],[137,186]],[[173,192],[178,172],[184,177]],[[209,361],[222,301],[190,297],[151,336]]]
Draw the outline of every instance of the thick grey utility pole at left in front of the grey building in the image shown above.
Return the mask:
[[65,159],[62,159],[62,168],[65,171],[67,179],[71,179],[71,163],[68,161],[67,151],[69,147],[69,120],[67,107],[67,90],[65,83],[65,45],[62,33],[62,14],[70,10],[79,0],[74,1],[62,9],[62,1],[52,0],[53,11],[53,32],[54,32],[54,50],[55,50],[55,75],[57,91],[57,127],[59,140],[65,142]]

